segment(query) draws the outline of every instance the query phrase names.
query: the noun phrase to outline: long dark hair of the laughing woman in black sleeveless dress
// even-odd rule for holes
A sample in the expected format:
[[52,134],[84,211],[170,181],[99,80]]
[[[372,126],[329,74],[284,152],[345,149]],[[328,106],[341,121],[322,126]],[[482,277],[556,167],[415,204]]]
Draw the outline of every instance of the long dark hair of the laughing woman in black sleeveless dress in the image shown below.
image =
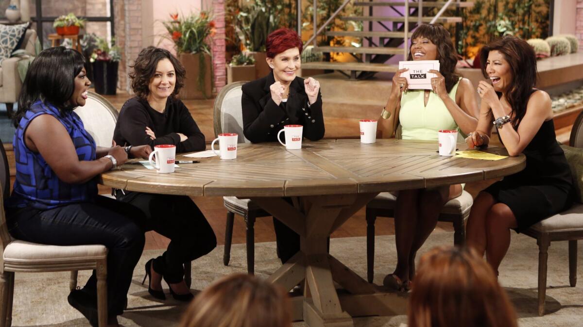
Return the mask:
[[504,55],[512,70],[510,89],[505,93],[505,98],[512,108],[512,126],[516,129],[524,118],[526,104],[538,77],[535,51],[526,41],[510,35],[490,42],[480,50],[480,64],[484,77],[488,77],[486,72],[488,54],[494,50]]

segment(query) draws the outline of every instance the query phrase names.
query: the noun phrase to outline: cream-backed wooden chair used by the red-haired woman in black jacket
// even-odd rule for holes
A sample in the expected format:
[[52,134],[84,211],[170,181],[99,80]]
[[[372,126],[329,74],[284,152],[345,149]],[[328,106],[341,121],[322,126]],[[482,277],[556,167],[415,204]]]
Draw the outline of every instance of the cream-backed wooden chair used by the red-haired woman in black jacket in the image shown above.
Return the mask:
[[[243,134],[243,111],[241,109],[241,87],[247,81],[238,81],[223,87],[215,99],[213,114],[215,137],[220,133],[237,133],[238,143],[251,143]],[[231,259],[231,241],[235,214],[245,219],[247,229],[247,272],[255,272],[255,218],[271,216],[249,199],[223,197],[227,208],[227,226],[224,232],[223,264],[229,265]]]

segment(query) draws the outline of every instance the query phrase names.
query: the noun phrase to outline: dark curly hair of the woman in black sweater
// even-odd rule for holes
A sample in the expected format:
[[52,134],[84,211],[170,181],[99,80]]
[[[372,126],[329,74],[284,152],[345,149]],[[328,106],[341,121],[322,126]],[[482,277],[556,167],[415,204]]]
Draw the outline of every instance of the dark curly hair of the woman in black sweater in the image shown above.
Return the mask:
[[138,58],[134,63],[134,72],[128,74],[129,78],[132,80],[132,90],[138,95],[138,97],[146,99],[150,94],[150,81],[156,73],[156,67],[158,62],[162,59],[168,59],[174,66],[174,72],[176,74],[176,83],[174,84],[174,92],[170,97],[175,97],[180,93],[180,89],[184,86],[184,78],[186,76],[186,70],[184,66],[173,56],[168,50],[147,47],[140,51]]

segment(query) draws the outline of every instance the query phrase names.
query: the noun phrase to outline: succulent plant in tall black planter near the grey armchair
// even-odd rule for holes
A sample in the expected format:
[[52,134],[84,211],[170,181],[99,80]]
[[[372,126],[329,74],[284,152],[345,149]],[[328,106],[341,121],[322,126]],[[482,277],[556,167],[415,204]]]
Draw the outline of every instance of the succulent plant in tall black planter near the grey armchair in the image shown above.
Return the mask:
[[115,40],[112,39],[110,45],[104,38],[96,37],[96,47],[89,58],[96,93],[115,95],[120,59],[121,49],[115,45]]

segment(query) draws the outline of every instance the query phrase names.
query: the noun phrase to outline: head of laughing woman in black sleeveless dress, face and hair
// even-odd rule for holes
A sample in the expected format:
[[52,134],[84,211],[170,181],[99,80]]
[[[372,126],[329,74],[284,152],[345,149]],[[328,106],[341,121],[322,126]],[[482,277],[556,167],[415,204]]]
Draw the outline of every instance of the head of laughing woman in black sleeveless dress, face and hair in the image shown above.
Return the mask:
[[517,127],[536,84],[534,49],[521,38],[508,35],[480,49],[480,65],[484,77],[496,79],[494,91],[505,95],[514,112],[512,126]]

